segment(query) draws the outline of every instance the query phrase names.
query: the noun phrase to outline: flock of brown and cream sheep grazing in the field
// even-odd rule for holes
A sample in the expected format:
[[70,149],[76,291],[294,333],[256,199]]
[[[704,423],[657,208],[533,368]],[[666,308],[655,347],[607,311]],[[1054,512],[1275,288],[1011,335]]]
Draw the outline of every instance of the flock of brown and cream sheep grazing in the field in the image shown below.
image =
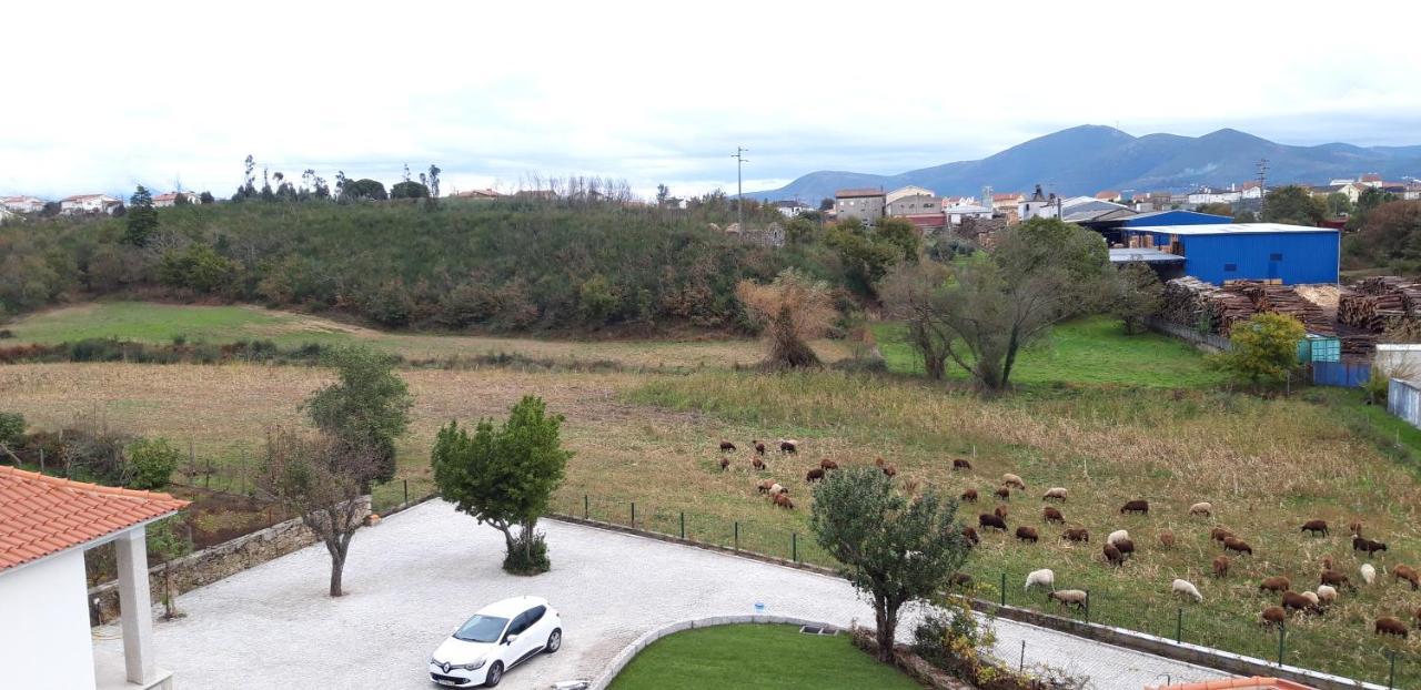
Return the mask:
[[[752,440],[750,443],[752,447],[755,449],[755,454],[752,457],[752,469],[766,470],[767,469],[767,464],[764,461],[766,444],[759,440]],[[780,454],[783,456],[793,456],[799,453],[800,443],[797,440],[780,439],[776,443],[779,446]],[[730,442],[720,442],[720,451],[722,451],[720,469],[726,470],[730,466],[730,461],[728,457],[725,457],[725,454],[736,451],[736,446]],[[880,470],[882,470],[884,474],[890,477],[895,476],[898,471],[897,467],[885,463],[881,457],[877,459],[874,464]],[[824,459],[820,461],[818,467],[809,470],[804,480],[807,483],[821,480],[824,478],[826,473],[833,471],[836,469],[838,469],[837,463]],[[952,461],[952,470],[972,471],[972,463],[968,459],[956,459]],[[774,480],[762,480],[756,488],[759,490],[760,494],[767,495],[774,503],[774,505],[789,510],[794,508],[794,503],[789,497],[789,488],[782,486],[780,483]],[[1010,501],[1013,491],[1026,491],[1026,481],[1016,474],[1006,473],[1002,476],[1002,484],[993,491],[993,495],[1002,501]],[[1046,493],[1042,495],[1042,501],[1056,501],[1057,504],[1064,504],[1066,497],[1067,497],[1066,487],[1052,487],[1046,490]],[[959,500],[963,504],[978,503],[979,500],[978,490],[968,488],[962,491]],[[978,534],[978,530],[982,530],[983,532],[988,530],[998,530],[1005,534],[1007,531],[1007,522],[1006,522],[1007,514],[1009,510],[1006,508],[1006,505],[998,505],[992,513],[979,514],[976,528],[965,525],[962,530],[963,537],[966,537],[969,544],[976,545],[980,542],[980,535]],[[1150,503],[1145,500],[1130,500],[1120,507],[1120,514],[1148,517]],[[1188,515],[1191,520],[1195,518],[1212,520],[1214,505],[1206,501],[1195,503],[1194,505],[1189,507]],[[1046,524],[1049,525],[1057,524],[1061,527],[1061,535],[1060,535],[1061,540],[1070,542],[1090,542],[1090,531],[1087,528],[1066,527],[1066,517],[1061,513],[1061,508],[1056,505],[1043,505],[1042,517]],[[1309,520],[1303,522],[1300,531],[1322,538],[1327,538],[1331,534],[1330,525],[1327,524],[1326,520]],[[1360,521],[1353,521],[1349,525],[1349,531],[1351,532],[1353,551],[1364,554],[1367,559],[1371,559],[1371,557],[1376,555],[1378,551],[1380,552],[1387,551],[1385,542],[1363,537],[1361,534],[1363,525]],[[1016,540],[1022,542],[1036,544],[1040,540],[1040,532],[1030,525],[1017,525],[1013,534]],[[1160,547],[1164,549],[1171,549],[1175,545],[1175,535],[1168,530],[1160,531],[1158,540],[1160,540]],[[1252,545],[1249,545],[1246,541],[1243,541],[1242,538],[1239,538],[1238,535],[1222,527],[1211,528],[1209,540],[1212,542],[1218,542],[1223,551],[1223,554],[1215,557],[1214,561],[1211,562],[1211,568],[1215,578],[1221,579],[1228,578],[1229,568],[1232,565],[1231,557],[1241,558],[1245,555],[1246,557],[1253,555]],[[1125,530],[1115,530],[1106,537],[1106,541],[1101,547],[1101,557],[1103,557],[1101,559],[1107,566],[1121,566],[1125,564],[1127,559],[1134,557],[1135,552],[1137,552],[1137,545],[1130,538],[1130,532]],[[1366,562],[1358,568],[1358,575],[1361,576],[1361,582],[1364,585],[1371,586],[1376,585],[1377,582],[1377,569],[1370,562]],[[1394,578],[1395,582],[1405,582],[1411,585],[1412,591],[1421,589],[1421,574],[1418,574],[1415,568],[1398,564],[1391,569],[1391,576]],[[969,585],[971,576],[965,574],[958,574],[953,578],[953,582],[956,585]],[[1088,593],[1083,589],[1056,589],[1056,574],[1050,568],[1036,569],[1026,575],[1025,589],[1030,592],[1033,588],[1044,588],[1050,591],[1049,598],[1059,602],[1063,606],[1076,606],[1077,609],[1084,609],[1088,605]],[[1289,579],[1286,575],[1265,578],[1259,584],[1258,589],[1260,593],[1272,593],[1280,596],[1279,605],[1266,606],[1259,615],[1259,622],[1262,625],[1272,626],[1272,625],[1282,625],[1292,613],[1323,615],[1326,613],[1329,606],[1331,606],[1339,601],[1341,592],[1356,591],[1357,585],[1351,581],[1349,575],[1340,572],[1336,568],[1336,564],[1333,562],[1331,557],[1327,557],[1323,558],[1320,564],[1317,586],[1313,591],[1302,591],[1302,592],[1295,591],[1292,579]],[[1172,582],[1169,584],[1169,592],[1175,596],[1184,596],[1188,599],[1194,599],[1195,602],[1204,602],[1204,595],[1199,592],[1199,588],[1182,578],[1172,579]],[[1418,606],[1408,615],[1410,618],[1414,619],[1415,626],[1421,628],[1421,606]],[[1374,633],[1394,635],[1405,639],[1408,629],[1401,619],[1384,615],[1376,618]]]

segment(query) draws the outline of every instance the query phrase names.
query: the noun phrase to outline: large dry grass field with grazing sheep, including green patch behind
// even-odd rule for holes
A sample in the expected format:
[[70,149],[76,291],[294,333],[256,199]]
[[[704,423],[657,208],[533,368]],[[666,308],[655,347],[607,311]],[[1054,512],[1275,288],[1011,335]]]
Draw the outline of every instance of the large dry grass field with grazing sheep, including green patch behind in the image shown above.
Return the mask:
[[[1395,564],[1417,565],[1421,555],[1412,450],[1421,447],[1421,433],[1360,405],[1354,392],[1265,400],[1219,390],[1195,351],[1155,336],[1118,336],[1111,327],[1086,321],[1059,328],[1053,348],[1023,354],[1026,389],[996,399],[902,375],[762,375],[710,365],[693,373],[405,371],[416,406],[412,433],[399,446],[401,476],[414,480],[414,491],[428,487],[428,449],[443,422],[502,416],[519,396],[537,393],[567,415],[566,440],[576,451],[558,510],[625,524],[635,503],[639,527],[678,534],[684,513],[692,538],[732,544],[737,525],[743,548],[827,564],[806,530],[811,498],[803,477],[820,457],[870,463],[881,456],[905,483],[952,494],[975,487],[983,497],[1012,471],[1030,490],[1006,505],[1007,522],[1036,527],[1042,541],[985,534],[969,566],[983,596],[1000,596],[996,585],[1005,574],[1007,602],[1047,608],[1043,593],[1025,596],[1022,582],[1026,572],[1050,566],[1057,586],[1090,589],[1093,620],[1169,637],[1182,622],[1185,642],[1266,659],[1276,656],[1277,639],[1256,618],[1277,602],[1258,593],[1258,581],[1289,575],[1296,589],[1310,589],[1323,557],[1358,579],[1363,561],[1351,554],[1344,525],[1361,518],[1368,535],[1390,544],[1376,561],[1378,582],[1343,592],[1326,616],[1293,622],[1285,656],[1384,683],[1384,655],[1400,650],[1398,687],[1421,684],[1421,636],[1400,642],[1371,635],[1377,616],[1408,620],[1421,605],[1390,576]],[[892,369],[909,369],[890,338],[881,335],[880,344]],[[637,356],[630,344],[607,346]],[[190,439],[199,454],[230,457],[237,444],[254,453],[270,425],[300,423],[297,405],[327,376],[298,366],[14,365],[0,368],[0,409],[44,427],[98,413],[119,429]],[[1142,385],[1118,382],[1135,379]],[[772,456],[769,471],[752,471],[750,439],[776,437],[800,439],[803,451]],[[740,446],[725,473],[720,439]],[[953,457],[972,459],[975,470],[951,471]],[[797,510],[772,508],[755,491],[760,478],[791,487]],[[1060,527],[1043,524],[1039,498],[1052,486],[1069,488],[1061,511],[1069,524],[1091,531],[1090,545],[1066,545]],[[391,490],[382,487],[387,494],[377,500],[388,503]],[[1150,517],[1118,515],[1131,498],[1148,500]],[[1214,503],[1215,517],[1189,518],[1194,501]],[[975,522],[976,513],[992,507],[983,500],[965,507],[963,517]],[[1312,518],[1329,520],[1333,534],[1303,535],[1299,525]],[[1219,554],[1208,540],[1215,525],[1245,538],[1256,554],[1235,558],[1228,579],[1209,575]],[[1115,528],[1130,530],[1140,552],[1110,569],[1100,540]],[[1160,547],[1164,530],[1177,537],[1174,549]],[[1205,602],[1174,599],[1169,582],[1177,576],[1198,585]]]

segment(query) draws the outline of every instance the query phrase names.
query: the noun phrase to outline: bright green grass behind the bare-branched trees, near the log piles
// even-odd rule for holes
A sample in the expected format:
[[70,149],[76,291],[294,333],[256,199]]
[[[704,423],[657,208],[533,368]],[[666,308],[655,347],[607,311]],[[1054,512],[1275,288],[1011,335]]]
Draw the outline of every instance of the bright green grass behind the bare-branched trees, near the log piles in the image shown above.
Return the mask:
[[[905,342],[901,324],[877,324],[874,338],[888,368],[922,373],[922,358]],[[966,379],[948,362],[948,375]],[[1121,383],[1150,388],[1199,388],[1223,378],[1205,365],[1191,345],[1167,335],[1125,335],[1120,321],[1091,317],[1056,327],[1050,336],[1025,349],[1012,372],[1013,383]]]

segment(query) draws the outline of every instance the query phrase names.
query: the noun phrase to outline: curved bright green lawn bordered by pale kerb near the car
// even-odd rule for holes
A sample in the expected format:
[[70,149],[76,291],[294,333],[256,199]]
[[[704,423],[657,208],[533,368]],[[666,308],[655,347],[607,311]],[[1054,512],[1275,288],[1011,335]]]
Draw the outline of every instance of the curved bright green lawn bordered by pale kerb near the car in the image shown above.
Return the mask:
[[651,643],[611,687],[915,690],[918,683],[854,647],[847,633],[818,637],[791,625],[723,625]]

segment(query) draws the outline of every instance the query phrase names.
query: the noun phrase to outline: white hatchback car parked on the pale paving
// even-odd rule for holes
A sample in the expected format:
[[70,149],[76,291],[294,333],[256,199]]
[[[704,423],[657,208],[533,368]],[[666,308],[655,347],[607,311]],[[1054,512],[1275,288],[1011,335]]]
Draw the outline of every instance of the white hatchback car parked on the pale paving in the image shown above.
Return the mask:
[[509,669],[563,646],[563,620],[537,596],[490,603],[429,657],[429,679],[449,687],[493,687]]

